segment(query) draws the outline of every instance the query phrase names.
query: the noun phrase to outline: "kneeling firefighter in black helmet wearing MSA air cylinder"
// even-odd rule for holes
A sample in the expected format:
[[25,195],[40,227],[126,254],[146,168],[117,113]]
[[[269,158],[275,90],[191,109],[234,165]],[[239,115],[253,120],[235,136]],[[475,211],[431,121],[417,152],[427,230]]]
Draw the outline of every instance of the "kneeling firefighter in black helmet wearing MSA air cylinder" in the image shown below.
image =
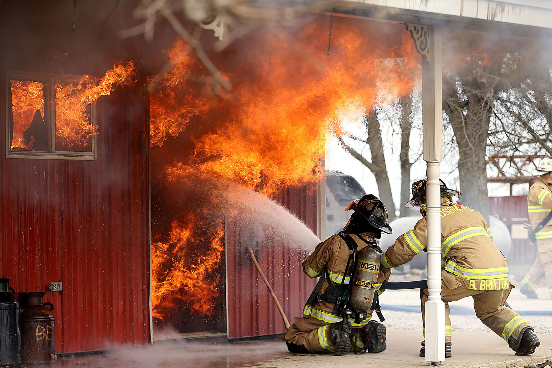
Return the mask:
[[356,199],[345,211],[351,209],[343,231],[317,245],[303,262],[305,274],[320,279],[305,304],[304,317],[295,317],[282,338],[291,353],[344,355],[386,348],[385,326],[370,319],[374,308],[379,312],[374,307],[379,306],[377,290],[385,281],[378,280],[381,250],[375,239],[382,232],[391,234],[387,211],[372,194]]

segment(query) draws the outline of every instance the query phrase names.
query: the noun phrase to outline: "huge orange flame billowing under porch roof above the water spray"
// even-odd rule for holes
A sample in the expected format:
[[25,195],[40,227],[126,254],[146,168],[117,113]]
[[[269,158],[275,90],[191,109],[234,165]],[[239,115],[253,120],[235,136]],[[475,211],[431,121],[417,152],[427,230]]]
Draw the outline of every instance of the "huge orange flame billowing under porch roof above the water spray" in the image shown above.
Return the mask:
[[[346,27],[332,34],[330,56],[320,56],[316,49],[327,44],[327,23],[300,29],[291,37],[301,40],[306,35],[298,45],[271,33],[253,40],[254,52],[247,61],[226,73],[235,83],[235,99],[213,101],[217,120],[211,123],[217,128],[195,141],[194,158],[182,167],[264,194],[319,180],[326,135],[341,135],[346,116],[353,114],[360,123],[374,105],[390,104],[410,93],[420,65],[406,30],[401,43],[383,48],[364,30],[343,24]],[[156,119],[152,145],[177,136],[191,115],[208,118],[201,115],[209,104],[189,81],[190,73],[203,69],[194,69],[197,61],[189,56],[177,58],[183,47],[180,40],[168,53],[176,67],[165,77],[163,90],[152,96],[152,101],[159,101],[151,111]],[[161,103],[169,98],[177,99],[170,105]]]

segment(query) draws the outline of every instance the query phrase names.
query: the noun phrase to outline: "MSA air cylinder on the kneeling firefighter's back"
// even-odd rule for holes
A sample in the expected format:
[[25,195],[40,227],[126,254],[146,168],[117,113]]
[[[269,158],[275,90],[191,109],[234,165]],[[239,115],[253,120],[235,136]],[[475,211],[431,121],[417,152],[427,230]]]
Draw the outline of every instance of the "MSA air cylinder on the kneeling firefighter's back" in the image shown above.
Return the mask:
[[372,248],[364,248],[358,253],[349,298],[349,304],[357,312],[367,311],[372,306],[378,283],[380,259],[379,252]]

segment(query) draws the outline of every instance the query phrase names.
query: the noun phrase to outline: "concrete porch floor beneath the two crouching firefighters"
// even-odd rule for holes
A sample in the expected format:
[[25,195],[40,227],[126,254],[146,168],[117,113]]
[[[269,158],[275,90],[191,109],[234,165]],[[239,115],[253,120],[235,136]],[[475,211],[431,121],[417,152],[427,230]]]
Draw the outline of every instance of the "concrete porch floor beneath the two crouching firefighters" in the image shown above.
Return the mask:
[[[142,347],[119,348],[102,355],[64,358],[56,366],[87,367],[235,367],[235,368],[326,368],[326,367],[424,367],[418,356],[422,333],[388,330],[387,350],[378,354],[344,356],[291,354],[280,340],[240,343],[194,343],[190,340],[164,341]],[[517,368],[533,367],[552,360],[552,335],[539,335],[540,346],[528,356],[516,356],[504,340],[491,332],[455,332],[448,367]],[[35,366],[36,367],[36,366]]]

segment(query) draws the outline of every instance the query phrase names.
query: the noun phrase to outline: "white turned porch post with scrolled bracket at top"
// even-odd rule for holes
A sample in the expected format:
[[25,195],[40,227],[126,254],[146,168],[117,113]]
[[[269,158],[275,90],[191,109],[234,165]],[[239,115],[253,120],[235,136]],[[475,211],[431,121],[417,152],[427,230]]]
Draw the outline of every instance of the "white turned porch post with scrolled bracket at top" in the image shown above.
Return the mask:
[[427,285],[426,361],[445,360],[445,313],[441,300],[441,221],[439,161],[443,159],[443,90],[441,31],[435,26],[408,24],[422,54],[423,159],[427,162]]

